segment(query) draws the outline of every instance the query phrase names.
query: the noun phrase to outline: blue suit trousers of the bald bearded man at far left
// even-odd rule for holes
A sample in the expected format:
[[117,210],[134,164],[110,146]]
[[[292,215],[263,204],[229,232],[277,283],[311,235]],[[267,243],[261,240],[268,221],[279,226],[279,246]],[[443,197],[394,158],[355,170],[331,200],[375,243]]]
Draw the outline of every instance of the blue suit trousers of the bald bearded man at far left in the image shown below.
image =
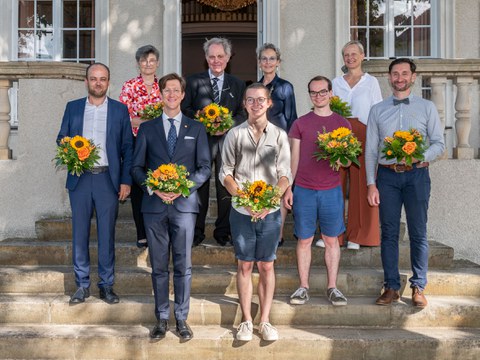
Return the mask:
[[90,221],[95,209],[98,238],[98,286],[112,286],[115,267],[115,220],[118,193],[107,172],[84,173],[69,191],[72,207],[73,269],[77,286],[90,287]]

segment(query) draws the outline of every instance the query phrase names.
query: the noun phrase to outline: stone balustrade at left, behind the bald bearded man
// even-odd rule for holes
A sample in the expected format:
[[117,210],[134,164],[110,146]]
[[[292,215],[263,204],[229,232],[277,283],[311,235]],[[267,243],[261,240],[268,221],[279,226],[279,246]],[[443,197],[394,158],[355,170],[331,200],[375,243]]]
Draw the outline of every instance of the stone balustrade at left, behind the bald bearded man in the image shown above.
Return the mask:
[[[10,135],[10,101],[8,90],[20,79],[85,79],[85,64],[56,62],[0,62],[0,160],[12,157],[8,147]],[[52,101],[55,101],[52,99]],[[48,106],[48,104],[45,104]]]

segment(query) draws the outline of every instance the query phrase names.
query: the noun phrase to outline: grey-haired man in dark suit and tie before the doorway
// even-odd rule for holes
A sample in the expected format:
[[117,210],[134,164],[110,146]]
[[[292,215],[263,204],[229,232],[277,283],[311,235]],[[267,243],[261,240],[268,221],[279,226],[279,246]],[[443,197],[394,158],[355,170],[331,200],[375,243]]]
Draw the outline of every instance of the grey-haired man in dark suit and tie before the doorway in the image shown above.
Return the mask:
[[[242,104],[245,82],[225,72],[232,54],[232,44],[228,39],[215,37],[203,44],[203,50],[209,69],[187,78],[187,89],[185,99],[182,101],[182,111],[186,116],[193,117],[198,110],[216,102],[232,112],[235,120],[234,126],[238,125],[246,119]],[[212,162],[215,162],[215,188],[217,192],[218,211],[213,237],[220,245],[225,246],[231,244],[228,220],[231,196],[218,177],[222,166],[221,148],[225,132],[218,132],[215,135],[208,134],[207,136]],[[200,213],[195,225],[194,246],[199,245],[205,239],[205,218],[210,189],[208,183],[206,182],[198,189]]]

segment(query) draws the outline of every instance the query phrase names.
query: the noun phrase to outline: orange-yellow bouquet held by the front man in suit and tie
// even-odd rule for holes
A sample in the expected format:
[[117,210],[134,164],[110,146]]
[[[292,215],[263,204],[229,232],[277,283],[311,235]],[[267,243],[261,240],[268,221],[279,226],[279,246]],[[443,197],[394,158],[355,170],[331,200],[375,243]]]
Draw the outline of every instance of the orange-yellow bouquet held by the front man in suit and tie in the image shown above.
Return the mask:
[[[188,175],[190,174],[184,165],[162,164],[155,170],[147,171],[144,185],[152,190],[172,192],[187,197],[190,195],[190,188],[195,186],[194,181],[187,179]],[[165,203],[171,204],[171,202]]]

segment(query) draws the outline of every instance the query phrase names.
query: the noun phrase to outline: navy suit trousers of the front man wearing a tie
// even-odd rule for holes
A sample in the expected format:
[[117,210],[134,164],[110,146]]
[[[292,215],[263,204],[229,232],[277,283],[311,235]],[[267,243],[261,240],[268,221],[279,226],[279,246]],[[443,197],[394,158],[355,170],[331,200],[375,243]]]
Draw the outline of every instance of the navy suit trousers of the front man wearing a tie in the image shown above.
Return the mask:
[[[156,196],[156,195],[153,195]],[[173,260],[174,314],[177,320],[187,320],[190,310],[192,282],[193,224],[197,214],[181,213],[169,205],[163,213],[144,213],[152,286],[155,297],[155,316],[170,318],[169,264]]]

